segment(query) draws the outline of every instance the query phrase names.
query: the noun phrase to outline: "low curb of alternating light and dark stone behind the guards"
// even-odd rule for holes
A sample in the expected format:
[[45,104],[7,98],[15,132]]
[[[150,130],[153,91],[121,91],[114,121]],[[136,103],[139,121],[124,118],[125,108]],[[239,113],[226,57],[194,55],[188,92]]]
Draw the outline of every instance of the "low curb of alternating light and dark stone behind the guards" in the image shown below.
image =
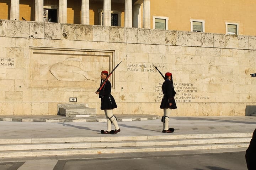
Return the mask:
[[[56,123],[56,122],[106,122],[106,118],[95,118],[95,119],[93,119],[92,117],[80,117],[80,119],[78,119],[79,117],[68,117],[68,118],[69,119],[0,118],[0,121],[52,122],[52,123]],[[82,119],[82,118],[87,118],[87,119]],[[117,121],[146,121],[146,120],[155,120],[155,119],[160,119],[160,117],[153,116],[153,117],[142,117],[142,118],[117,118]]]

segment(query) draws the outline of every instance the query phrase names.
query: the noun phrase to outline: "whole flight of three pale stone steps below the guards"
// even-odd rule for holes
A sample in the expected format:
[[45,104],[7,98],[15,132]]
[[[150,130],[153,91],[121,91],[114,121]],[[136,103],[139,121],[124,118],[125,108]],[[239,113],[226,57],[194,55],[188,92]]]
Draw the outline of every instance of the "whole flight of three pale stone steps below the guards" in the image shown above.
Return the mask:
[[252,133],[1,139],[0,157],[246,148]]

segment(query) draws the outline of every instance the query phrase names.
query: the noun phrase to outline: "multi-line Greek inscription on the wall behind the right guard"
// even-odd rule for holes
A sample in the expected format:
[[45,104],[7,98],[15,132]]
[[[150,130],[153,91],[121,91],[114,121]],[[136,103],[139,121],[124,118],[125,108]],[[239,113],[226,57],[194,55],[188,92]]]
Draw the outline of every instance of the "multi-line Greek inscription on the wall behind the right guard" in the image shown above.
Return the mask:
[[[198,100],[209,99],[208,96],[198,96],[197,87],[193,83],[174,83],[174,89],[177,92],[174,97],[176,102],[198,102]],[[155,86],[155,92],[158,93],[155,102],[161,102],[164,96],[162,94],[162,83]]]

